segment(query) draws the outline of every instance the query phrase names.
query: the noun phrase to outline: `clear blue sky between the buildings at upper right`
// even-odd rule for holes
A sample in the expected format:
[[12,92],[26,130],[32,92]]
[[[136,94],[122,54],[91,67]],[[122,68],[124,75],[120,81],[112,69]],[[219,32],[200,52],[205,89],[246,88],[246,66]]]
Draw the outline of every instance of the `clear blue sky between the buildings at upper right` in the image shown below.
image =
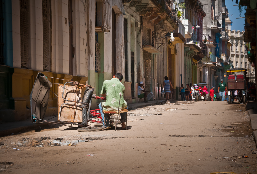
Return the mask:
[[[245,18],[236,19],[236,18],[240,17],[240,15],[239,15],[239,11],[238,11],[238,6],[233,6],[233,5],[237,5],[236,0],[233,0],[233,2],[232,2],[232,0],[226,0],[226,7],[228,9],[230,20],[233,22],[232,26],[231,26],[231,30],[242,31],[242,30],[244,30],[244,24],[245,24],[244,19]],[[244,13],[245,13],[245,9],[243,7],[241,17],[244,17]]]

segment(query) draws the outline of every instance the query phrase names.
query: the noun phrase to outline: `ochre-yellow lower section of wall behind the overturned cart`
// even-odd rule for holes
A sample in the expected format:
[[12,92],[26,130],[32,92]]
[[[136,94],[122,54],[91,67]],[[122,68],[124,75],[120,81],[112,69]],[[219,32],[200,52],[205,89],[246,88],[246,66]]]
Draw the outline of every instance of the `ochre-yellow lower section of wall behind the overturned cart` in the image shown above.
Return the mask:
[[[29,97],[34,85],[34,81],[39,72],[49,77],[48,79],[51,83],[56,83],[53,84],[53,87],[51,88],[53,93],[56,95],[58,95],[58,83],[63,84],[67,82],[66,80],[72,79],[73,81],[78,81],[80,84],[86,84],[86,81],[88,80],[88,77],[82,76],[72,76],[69,74],[57,74],[44,71],[34,71],[31,69],[14,68],[14,73],[12,75],[12,97],[14,98],[14,110],[12,111],[13,113],[10,114],[14,114],[15,121],[31,118]],[[53,93],[50,92],[45,117],[57,115],[57,97]],[[82,94],[83,93],[84,91],[82,91]]]

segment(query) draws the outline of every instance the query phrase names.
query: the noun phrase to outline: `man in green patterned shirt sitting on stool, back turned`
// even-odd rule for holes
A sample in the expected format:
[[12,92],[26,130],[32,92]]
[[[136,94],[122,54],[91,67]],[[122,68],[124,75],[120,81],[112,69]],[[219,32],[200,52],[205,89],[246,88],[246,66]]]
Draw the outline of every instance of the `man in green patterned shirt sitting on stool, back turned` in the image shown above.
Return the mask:
[[[103,97],[106,97],[106,101],[100,103],[99,109],[102,116],[102,122],[104,126],[105,123],[105,129],[111,128],[109,124],[109,118],[107,115],[104,116],[103,110],[123,110],[127,109],[127,102],[123,98],[123,94],[125,91],[124,85],[121,83],[123,79],[123,75],[121,73],[117,73],[113,76],[111,80],[105,80],[103,83],[101,95]],[[120,100],[121,98],[121,100]],[[119,107],[120,105],[120,107]],[[126,120],[126,112],[121,113],[121,129],[125,129],[125,120]]]

